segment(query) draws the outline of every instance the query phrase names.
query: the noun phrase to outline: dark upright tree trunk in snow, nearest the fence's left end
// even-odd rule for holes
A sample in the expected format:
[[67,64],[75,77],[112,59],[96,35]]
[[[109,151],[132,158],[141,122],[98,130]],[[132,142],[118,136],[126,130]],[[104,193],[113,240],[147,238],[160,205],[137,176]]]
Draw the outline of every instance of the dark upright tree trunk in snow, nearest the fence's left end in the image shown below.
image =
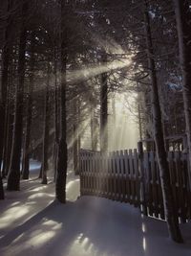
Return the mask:
[[57,172],[55,179],[55,195],[62,202],[66,202],[67,177],[67,142],[66,142],[66,63],[67,63],[67,7],[66,0],[61,1],[61,117],[60,139],[58,144]]

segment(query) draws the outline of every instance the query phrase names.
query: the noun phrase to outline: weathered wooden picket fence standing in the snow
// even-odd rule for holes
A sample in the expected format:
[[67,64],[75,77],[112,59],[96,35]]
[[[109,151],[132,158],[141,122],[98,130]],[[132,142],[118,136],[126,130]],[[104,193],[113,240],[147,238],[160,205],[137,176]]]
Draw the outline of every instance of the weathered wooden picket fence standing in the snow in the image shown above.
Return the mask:
[[[169,151],[171,186],[181,222],[191,220],[191,192],[187,156]],[[80,151],[81,196],[127,202],[141,213],[164,220],[159,167],[154,151]]]

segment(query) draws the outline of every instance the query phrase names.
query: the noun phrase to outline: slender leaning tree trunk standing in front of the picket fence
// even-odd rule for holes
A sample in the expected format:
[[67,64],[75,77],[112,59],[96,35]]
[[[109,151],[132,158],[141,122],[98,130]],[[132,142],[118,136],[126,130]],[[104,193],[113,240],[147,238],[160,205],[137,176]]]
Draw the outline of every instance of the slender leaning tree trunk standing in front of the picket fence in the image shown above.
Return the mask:
[[176,208],[173,192],[170,184],[170,173],[167,162],[167,154],[163,138],[161,111],[159,105],[159,88],[156,73],[156,63],[154,60],[153,41],[151,35],[150,17],[147,1],[145,3],[144,21],[147,44],[148,63],[151,76],[151,105],[153,114],[153,134],[156,144],[157,158],[159,164],[159,175],[163,195],[165,218],[168,225],[169,235],[172,240],[182,243],[180,234],[178,211]]

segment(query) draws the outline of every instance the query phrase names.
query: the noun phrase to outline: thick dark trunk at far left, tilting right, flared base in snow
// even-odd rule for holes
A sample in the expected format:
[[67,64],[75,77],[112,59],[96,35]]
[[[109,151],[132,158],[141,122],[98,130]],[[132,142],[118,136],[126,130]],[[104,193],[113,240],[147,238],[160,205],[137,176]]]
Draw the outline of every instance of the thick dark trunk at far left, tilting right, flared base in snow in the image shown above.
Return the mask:
[[22,131],[23,131],[23,91],[25,78],[25,52],[27,31],[25,28],[25,16],[27,12],[27,3],[22,7],[22,27],[19,42],[19,57],[18,57],[18,83],[16,86],[15,96],[15,112],[12,134],[12,149],[11,149],[11,165],[8,175],[7,189],[20,189],[20,159],[22,147]]

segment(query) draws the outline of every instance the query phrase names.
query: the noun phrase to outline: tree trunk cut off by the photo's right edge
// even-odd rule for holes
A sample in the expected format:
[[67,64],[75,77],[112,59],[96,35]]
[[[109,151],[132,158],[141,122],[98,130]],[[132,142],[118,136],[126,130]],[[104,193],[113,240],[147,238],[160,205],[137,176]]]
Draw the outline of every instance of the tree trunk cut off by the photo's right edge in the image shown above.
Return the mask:
[[191,12],[188,0],[174,0],[183,78],[183,104],[189,151],[189,184],[191,190]]

